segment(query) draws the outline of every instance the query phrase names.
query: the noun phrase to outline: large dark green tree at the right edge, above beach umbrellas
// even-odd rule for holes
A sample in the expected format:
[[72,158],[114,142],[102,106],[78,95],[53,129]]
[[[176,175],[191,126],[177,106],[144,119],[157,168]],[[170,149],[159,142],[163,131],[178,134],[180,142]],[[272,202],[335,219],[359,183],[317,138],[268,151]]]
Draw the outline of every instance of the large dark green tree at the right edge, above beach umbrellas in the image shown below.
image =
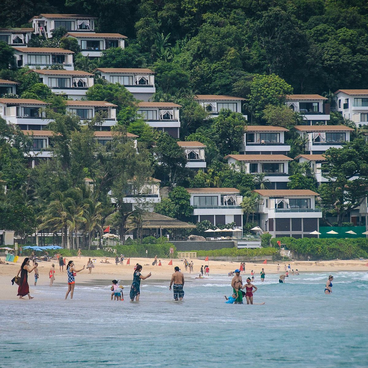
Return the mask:
[[368,144],[356,138],[343,148],[329,148],[322,170],[329,183],[321,184],[319,193],[323,205],[332,205],[338,226],[344,217],[357,208],[368,194]]

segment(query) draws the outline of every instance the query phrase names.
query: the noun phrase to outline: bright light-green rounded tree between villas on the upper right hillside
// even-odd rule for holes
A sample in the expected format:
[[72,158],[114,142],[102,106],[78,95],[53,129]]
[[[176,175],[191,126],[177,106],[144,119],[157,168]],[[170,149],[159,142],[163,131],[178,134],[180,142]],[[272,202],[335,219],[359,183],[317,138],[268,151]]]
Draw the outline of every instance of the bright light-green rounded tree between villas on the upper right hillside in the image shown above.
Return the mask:
[[256,74],[250,83],[248,105],[254,111],[259,121],[263,117],[263,110],[267,105],[282,106],[285,96],[293,93],[291,85],[275,74]]

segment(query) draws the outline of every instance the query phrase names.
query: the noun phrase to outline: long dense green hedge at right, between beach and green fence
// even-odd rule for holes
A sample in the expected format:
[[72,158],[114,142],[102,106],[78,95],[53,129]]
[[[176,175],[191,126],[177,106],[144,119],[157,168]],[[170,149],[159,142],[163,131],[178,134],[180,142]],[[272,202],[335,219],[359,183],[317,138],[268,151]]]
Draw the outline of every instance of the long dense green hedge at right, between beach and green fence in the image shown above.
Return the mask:
[[337,239],[337,238],[302,238],[290,237],[273,238],[271,243],[278,248],[277,241],[285,244],[295,258],[311,259],[354,259],[368,258],[368,240],[366,238]]

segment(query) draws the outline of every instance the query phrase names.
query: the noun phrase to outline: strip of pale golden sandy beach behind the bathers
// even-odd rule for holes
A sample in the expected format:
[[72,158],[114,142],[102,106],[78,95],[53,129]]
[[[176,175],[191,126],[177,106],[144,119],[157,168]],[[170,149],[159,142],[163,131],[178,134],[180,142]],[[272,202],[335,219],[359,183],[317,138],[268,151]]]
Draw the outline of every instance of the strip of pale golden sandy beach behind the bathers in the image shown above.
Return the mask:
[[[23,261],[24,257],[20,258],[17,263],[8,262],[8,265],[1,264],[0,265],[0,300],[13,300],[17,299],[17,286],[11,285],[10,280],[17,274],[20,265]],[[67,258],[68,261],[74,261],[75,268],[79,269],[83,266],[87,265],[88,257],[82,256],[80,259],[78,257],[70,257]],[[130,258],[130,265],[126,265],[126,259],[124,260],[124,265],[116,265],[114,258],[108,258],[110,263],[100,263],[100,261],[105,261],[105,258],[96,258],[95,268],[92,269],[92,274],[89,275],[88,270],[85,269],[79,272],[76,276],[76,284],[83,285],[87,284],[93,280],[109,280],[112,279],[120,279],[120,280],[131,280],[133,274],[133,268],[136,263],[139,263],[143,266],[142,275],[146,275],[149,272],[152,273],[151,280],[170,280],[171,275],[173,273],[173,269],[175,266],[179,266],[181,272],[184,273],[184,276],[187,279],[194,279],[194,277],[199,275],[199,271],[201,269],[201,265],[205,265],[209,263],[210,276],[212,273],[227,275],[230,271],[234,271],[235,269],[240,267],[240,263],[238,262],[223,262],[223,261],[209,261],[205,262],[200,259],[193,259],[194,263],[194,271],[190,274],[189,268],[188,271],[185,271],[185,267],[183,261],[180,259],[173,259],[173,265],[168,265],[169,259],[162,259],[162,266],[152,266],[153,258]],[[66,270],[64,267],[64,272],[60,272],[59,265],[56,261],[51,262],[42,262],[38,261],[39,266],[39,279],[37,285],[48,285],[49,284],[49,270],[54,262],[55,264],[55,284],[66,284]],[[326,272],[326,273],[334,273],[338,271],[367,271],[368,263],[367,260],[359,261],[359,260],[333,260],[333,261],[290,261],[291,269],[299,270],[302,272]],[[288,265],[289,262],[279,262],[280,264],[280,273],[284,273],[284,265]],[[32,265],[32,262],[31,262]],[[246,263],[245,264],[245,273],[242,275],[250,275],[251,270],[254,271],[255,277],[259,275],[261,269],[264,268],[267,273],[277,273],[277,262],[268,262],[266,265],[262,263]],[[209,276],[209,278],[210,278]],[[34,276],[33,272],[28,275],[28,283],[31,290],[34,290],[36,287],[33,286]]]

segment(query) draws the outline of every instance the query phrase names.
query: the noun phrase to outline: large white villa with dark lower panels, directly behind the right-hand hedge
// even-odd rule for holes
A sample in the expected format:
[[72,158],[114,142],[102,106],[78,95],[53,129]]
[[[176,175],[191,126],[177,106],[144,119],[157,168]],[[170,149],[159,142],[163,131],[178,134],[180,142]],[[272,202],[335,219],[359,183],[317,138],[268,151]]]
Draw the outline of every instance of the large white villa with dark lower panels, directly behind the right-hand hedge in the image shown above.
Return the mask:
[[273,237],[312,238],[322,210],[315,208],[311,190],[255,190],[259,195],[259,226]]

